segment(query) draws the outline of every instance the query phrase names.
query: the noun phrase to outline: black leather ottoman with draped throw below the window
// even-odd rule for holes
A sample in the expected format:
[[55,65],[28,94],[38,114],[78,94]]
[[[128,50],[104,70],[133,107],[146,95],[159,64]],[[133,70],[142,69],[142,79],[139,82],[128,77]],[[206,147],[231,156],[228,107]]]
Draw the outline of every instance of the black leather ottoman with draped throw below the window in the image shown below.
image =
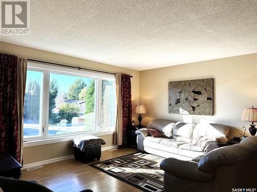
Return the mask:
[[83,163],[93,159],[100,160],[102,144],[105,144],[105,141],[100,137],[77,137],[72,142],[72,146],[74,146],[74,158]]

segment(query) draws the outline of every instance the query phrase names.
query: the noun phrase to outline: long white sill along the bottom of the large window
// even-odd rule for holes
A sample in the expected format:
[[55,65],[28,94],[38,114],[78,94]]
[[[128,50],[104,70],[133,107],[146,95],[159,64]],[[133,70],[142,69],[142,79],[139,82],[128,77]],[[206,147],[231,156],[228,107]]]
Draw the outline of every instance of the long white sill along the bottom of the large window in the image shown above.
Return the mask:
[[24,145],[23,147],[31,147],[31,146],[46,145],[51,143],[72,141],[76,137],[87,136],[87,135],[103,136],[103,135],[112,135],[112,134],[114,134],[114,131],[102,131],[102,132],[93,132],[93,133],[91,132],[91,133],[85,133],[85,134],[79,134],[79,135],[70,135],[70,136],[58,137],[58,138],[42,139],[42,140],[36,140],[36,141],[27,141],[27,142],[23,142],[23,145]]

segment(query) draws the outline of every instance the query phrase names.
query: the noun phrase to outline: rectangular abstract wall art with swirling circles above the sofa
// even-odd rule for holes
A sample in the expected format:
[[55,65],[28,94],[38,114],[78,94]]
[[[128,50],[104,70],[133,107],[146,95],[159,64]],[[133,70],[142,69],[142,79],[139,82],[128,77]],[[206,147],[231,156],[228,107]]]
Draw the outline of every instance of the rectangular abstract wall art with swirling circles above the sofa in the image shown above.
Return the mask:
[[169,82],[169,113],[213,115],[213,78]]

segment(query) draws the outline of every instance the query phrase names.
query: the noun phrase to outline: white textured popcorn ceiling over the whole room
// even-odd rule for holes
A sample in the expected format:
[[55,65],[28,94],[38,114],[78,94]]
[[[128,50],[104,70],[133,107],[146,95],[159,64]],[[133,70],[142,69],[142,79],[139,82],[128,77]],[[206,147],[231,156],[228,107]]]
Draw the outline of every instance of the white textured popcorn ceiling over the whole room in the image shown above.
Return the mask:
[[257,1],[35,1],[1,41],[145,70],[257,52]]

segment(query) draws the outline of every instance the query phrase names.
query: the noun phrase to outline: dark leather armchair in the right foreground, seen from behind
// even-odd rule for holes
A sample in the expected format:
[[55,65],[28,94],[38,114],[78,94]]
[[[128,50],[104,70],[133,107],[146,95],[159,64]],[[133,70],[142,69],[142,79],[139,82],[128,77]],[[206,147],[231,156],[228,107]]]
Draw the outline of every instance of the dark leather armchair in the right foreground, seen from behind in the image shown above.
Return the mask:
[[190,161],[164,159],[164,191],[232,191],[257,187],[257,136]]

